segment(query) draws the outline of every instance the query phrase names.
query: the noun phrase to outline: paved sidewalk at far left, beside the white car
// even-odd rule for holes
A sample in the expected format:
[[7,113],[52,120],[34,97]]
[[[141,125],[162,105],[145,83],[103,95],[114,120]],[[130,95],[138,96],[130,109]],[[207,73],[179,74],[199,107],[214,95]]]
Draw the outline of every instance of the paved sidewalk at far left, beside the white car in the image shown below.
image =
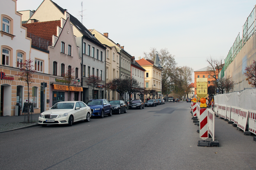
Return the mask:
[[0,117],[0,133],[7,132],[11,130],[22,129],[26,127],[32,127],[38,125],[38,117],[40,113],[33,114],[32,123],[22,123],[24,122],[24,116],[1,116]]

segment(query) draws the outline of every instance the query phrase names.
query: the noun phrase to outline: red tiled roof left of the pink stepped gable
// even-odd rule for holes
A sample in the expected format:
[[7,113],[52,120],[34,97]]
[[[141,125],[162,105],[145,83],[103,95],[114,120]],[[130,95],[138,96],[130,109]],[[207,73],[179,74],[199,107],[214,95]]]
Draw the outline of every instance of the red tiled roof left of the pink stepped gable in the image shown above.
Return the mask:
[[57,36],[57,26],[61,27],[61,20],[22,24],[31,33],[49,41],[52,45],[52,35]]

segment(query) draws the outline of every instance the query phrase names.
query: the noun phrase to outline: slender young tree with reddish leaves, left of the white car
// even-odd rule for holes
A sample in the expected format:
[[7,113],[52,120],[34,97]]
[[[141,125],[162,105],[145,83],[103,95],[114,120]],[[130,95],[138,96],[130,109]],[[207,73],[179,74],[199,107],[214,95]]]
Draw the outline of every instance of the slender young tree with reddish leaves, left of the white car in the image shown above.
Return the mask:
[[[28,113],[28,122],[29,120],[29,112],[30,112],[30,103],[29,103],[29,85],[34,82],[33,80],[33,74],[36,72],[32,65],[33,60],[32,59],[26,59],[23,63],[22,66],[20,67],[20,74],[16,74],[15,76],[20,76],[18,80],[24,81],[27,83],[28,86],[28,108],[27,108],[27,113]],[[32,122],[32,120],[31,120]]]

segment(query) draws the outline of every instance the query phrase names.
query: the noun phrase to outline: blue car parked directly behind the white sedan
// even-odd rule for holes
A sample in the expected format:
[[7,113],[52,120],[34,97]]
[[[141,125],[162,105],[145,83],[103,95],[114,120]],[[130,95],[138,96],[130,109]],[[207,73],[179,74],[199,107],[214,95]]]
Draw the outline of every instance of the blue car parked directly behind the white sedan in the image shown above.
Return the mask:
[[107,99],[90,99],[86,105],[91,108],[91,116],[99,116],[100,118],[103,118],[105,114],[112,116],[111,104]]

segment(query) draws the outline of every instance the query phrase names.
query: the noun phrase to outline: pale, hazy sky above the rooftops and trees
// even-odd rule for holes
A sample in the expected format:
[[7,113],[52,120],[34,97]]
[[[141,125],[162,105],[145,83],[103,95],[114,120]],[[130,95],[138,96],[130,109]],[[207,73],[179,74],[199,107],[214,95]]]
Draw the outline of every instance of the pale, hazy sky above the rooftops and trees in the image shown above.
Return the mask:
[[[178,66],[194,71],[207,59],[225,59],[255,0],[53,0],[87,29],[108,37],[136,59],[150,48],[167,48]],[[17,11],[36,10],[43,0],[17,0]],[[194,74],[192,75],[194,79]]]

